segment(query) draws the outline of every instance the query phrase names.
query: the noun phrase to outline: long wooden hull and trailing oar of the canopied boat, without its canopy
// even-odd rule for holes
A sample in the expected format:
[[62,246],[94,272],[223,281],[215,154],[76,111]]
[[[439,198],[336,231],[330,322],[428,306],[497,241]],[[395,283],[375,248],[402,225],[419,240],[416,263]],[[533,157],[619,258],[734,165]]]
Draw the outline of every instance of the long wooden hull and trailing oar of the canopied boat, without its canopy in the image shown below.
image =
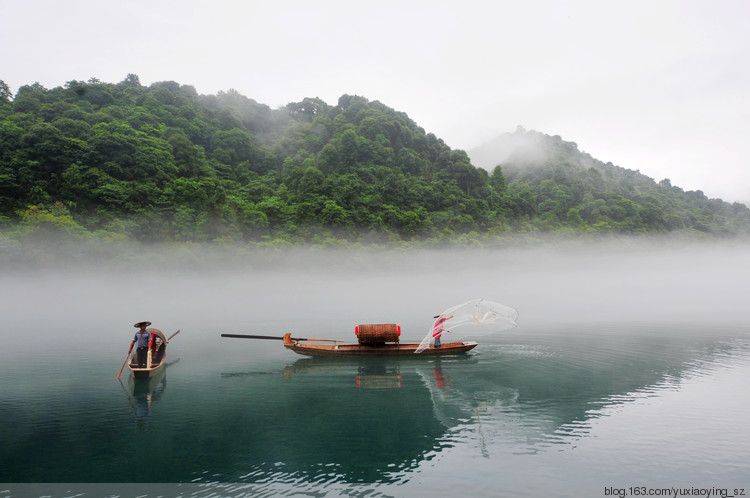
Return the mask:
[[[360,326],[362,327],[362,326]],[[392,342],[374,342],[358,344],[342,344],[343,341],[332,339],[304,339],[292,337],[292,334],[285,334],[283,337],[265,336],[265,335],[244,335],[244,334],[221,334],[222,337],[235,337],[240,339],[276,339],[283,340],[284,347],[297,354],[306,356],[324,356],[324,357],[352,357],[352,356],[406,356],[415,355],[419,343],[399,343]],[[331,342],[333,344],[311,344],[308,341]],[[430,345],[422,350],[419,355],[437,356],[465,353],[477,346],[475,341],[446,342],[442,347],[436,348]]]

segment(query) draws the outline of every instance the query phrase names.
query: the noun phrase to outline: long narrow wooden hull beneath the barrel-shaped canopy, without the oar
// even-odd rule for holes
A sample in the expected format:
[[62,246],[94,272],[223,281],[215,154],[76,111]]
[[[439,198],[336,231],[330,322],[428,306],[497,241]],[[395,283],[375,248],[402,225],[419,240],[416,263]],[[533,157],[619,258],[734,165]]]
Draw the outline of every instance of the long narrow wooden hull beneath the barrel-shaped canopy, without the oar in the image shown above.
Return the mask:
[[[420,356],[451,355],[465,353],[474,347],[474,341],[447,342],[440,348],[430,346],[424,349]],[[419,347],[418,343],[384,344],[381,346],[367,346],[362,344],[284,344],[284,347],[297,354],[306,356],[344,357],[344,356],[406,356],[414,355]]]

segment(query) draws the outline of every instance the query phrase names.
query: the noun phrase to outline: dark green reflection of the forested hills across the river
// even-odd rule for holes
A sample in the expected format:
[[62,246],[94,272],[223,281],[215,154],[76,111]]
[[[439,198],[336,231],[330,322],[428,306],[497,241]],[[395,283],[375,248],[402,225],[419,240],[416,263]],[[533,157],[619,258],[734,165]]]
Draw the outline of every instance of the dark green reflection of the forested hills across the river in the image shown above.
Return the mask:
[[[302,358],[261,344],[217,365],[196,341],[178,365],[190,368],[119,386],[111,362],[17,362],[0,377],[0,477],[401,483],[455,451],[494,465],[572,447],[633,399],[722,365],[749,372],[749,344],[609,326],[506,334],[450,358]],[[87,464],[71,468],[71,453]],[[160,465],[133,466],[143,454]]]

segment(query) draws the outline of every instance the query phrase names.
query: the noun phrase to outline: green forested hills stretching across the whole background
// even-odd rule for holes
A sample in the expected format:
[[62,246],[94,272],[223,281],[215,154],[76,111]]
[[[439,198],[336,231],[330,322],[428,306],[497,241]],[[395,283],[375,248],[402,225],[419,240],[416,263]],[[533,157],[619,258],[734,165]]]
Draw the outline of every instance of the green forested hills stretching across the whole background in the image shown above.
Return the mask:
[[544,154],[483,160],[488,172],[358,96],[271,109],[135,75],[15,96],[0,81],[2,236],[295,244],[750,232],[743,205],[657,184],[559,137],[516,134]]

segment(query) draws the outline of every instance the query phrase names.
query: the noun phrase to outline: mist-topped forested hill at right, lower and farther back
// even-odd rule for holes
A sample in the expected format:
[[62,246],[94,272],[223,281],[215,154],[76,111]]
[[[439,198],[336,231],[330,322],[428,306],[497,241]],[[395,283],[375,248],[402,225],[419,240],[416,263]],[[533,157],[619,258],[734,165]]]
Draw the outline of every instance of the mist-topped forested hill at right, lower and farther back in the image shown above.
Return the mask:
[[[542,219],[598,230],[697,230],[730,234],[747,227],[742,204],[685,192],[581,152],[574,142],[519,127],[469,151],[474,164],[501,166],[508,188],[536,201]],[[637,215],[637,216],[636,216]]]

